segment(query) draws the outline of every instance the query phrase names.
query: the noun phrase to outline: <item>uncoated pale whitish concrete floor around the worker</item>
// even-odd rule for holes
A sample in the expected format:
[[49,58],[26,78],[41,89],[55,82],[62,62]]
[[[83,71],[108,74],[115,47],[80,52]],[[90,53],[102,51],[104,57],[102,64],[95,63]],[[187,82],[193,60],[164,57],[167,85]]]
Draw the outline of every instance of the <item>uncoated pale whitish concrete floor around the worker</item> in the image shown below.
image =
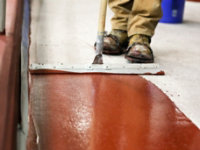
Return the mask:
[[[89,0],[32,1],[30,64],[91,63],[98,5],[99,2]],[[143,77],[161,88],[200,128],[199,14],[200,3],[187,2],[183,24],[158,25],[152,48],[155,61],[166,75]],[[111,16],[108,10],[108,31]],[[108,63],[126,63],[119,56],[104,58]]]

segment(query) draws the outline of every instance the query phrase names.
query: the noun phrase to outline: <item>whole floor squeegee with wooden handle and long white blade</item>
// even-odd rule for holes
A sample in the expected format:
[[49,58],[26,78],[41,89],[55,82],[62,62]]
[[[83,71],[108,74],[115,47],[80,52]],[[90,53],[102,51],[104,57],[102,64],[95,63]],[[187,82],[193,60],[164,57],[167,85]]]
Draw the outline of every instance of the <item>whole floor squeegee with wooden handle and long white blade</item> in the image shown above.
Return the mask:
[[98,32],[96,40],[96,56],[92,64],[30,64],[32,73],[107,73],[107,74],[158,74],[163,75],[159,64],[107,64],[103,63],[103,41],[105,35],[107,0],[101,0]]

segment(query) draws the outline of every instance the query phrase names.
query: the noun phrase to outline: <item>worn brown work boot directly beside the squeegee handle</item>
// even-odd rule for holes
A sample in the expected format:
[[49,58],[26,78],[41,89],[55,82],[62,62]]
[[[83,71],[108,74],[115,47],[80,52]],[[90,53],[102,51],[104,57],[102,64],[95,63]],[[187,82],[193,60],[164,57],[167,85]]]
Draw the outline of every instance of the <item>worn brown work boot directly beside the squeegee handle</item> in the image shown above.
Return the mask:
[[127,46],[127,32],[123,30],[112,30],[110,34],[104,37],[103,54],[120,55],[125,53]]

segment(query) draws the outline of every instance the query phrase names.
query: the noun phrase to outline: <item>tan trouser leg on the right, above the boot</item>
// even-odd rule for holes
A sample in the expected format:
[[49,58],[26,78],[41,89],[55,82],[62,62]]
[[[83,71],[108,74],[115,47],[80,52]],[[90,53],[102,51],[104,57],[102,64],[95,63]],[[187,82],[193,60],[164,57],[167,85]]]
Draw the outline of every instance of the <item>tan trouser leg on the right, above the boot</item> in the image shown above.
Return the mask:
[[134,0],[128,19],[128,36],[142,34],[152,37],[161,17],[161,0]]

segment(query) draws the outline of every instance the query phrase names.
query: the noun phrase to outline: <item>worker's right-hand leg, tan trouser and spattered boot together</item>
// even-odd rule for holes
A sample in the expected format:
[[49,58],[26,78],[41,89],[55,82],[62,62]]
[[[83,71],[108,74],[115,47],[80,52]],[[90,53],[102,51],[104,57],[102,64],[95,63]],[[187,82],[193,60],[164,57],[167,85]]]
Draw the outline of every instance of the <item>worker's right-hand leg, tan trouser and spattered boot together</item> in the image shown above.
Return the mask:
[[129,48],[125,56],[130,62],[154,62],[150,41],[161,16],[161,0],[134,0],[128,19]]

